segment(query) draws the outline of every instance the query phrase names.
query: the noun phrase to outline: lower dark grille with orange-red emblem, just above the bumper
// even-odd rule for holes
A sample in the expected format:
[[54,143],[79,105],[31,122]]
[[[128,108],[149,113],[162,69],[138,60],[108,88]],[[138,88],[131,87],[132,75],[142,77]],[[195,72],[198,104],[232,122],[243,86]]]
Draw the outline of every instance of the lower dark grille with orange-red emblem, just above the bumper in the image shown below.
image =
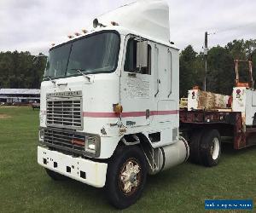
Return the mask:
[[44,129],[44,144],[73,153],[84,153],[85,135],[75,131]]

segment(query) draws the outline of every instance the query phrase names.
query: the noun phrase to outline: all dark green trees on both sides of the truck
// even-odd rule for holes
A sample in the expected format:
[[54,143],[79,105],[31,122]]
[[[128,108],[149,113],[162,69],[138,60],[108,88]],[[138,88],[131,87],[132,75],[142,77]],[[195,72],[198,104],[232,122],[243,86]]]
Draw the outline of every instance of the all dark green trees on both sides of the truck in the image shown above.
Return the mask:
[[[40,54],[43,55],[43,54]],[[253,60],[256,79],[256,40],[234,40],[224,47],[209,49],[207,56],[207,91],[230,95],[235,83],[235,59]],[[203,89],[205,58],[191,45],[180,52],[180,96],[197,85]],[[45,57],[35,58],[30,52],[0,52],[0,88],[39,89],[44,75]],[[241,78],[247,79],[247,66],[242,64]]]

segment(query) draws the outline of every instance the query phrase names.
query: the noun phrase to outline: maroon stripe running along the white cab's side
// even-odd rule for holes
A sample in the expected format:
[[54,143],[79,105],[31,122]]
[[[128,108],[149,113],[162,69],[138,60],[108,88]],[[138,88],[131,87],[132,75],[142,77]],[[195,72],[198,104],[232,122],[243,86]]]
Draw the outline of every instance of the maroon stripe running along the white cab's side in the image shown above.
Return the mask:
[[[174,115],[178,114],[178,110],[167,111],[151,111],[150,115]],[[146,116],[146,112],[122,112],[122,118],[127,117],[143,117]],[[83,117],[89,118],[119,118],[119,114],[115,112],[83,112]]]

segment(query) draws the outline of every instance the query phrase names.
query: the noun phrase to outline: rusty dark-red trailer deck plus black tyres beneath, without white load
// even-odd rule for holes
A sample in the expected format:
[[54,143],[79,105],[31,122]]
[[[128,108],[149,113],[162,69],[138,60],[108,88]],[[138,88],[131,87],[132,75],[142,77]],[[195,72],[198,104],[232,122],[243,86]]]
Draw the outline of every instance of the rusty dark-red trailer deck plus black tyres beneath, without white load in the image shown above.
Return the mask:
[[[191,161],[207,166],[218,164],[221,142],[232,143],[234,149],[256,145],[256,126],[244,125],[243,119],[242,112],[180,109],[180,132],[189,143]],[[218,147],[212,142],[212,132],[216,139],[219,134]],[[216,148],[218,157],[213,157]]]

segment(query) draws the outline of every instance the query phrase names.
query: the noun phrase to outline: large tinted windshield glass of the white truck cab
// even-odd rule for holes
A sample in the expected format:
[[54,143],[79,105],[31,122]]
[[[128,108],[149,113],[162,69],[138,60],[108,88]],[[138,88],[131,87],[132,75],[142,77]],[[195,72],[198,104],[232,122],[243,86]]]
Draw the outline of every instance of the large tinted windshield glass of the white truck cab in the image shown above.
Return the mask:
[[117,66],[118,55],[117,33],[103,32],[83,37],[49,51],[44,77],[63,78],[81,75],[81,72],[113,72]]

